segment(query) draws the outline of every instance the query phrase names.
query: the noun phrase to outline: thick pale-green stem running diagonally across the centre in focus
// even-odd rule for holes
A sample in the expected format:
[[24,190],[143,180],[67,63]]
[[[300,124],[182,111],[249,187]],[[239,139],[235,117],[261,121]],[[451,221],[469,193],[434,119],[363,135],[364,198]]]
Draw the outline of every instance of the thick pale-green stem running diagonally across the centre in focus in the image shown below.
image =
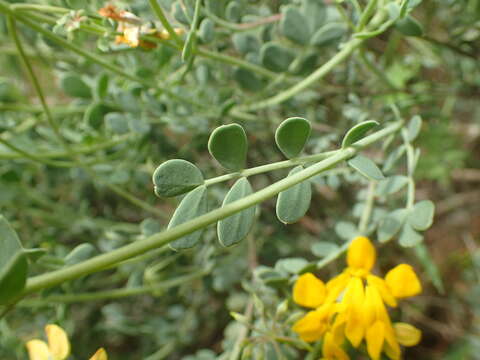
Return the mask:
[[389,136],[398,131],[403,125],[403,122],[394,123],[374,134],[371,134],[362,140],[355,143],[355,147],[338,150],[334,155],[324,159],[294,175],[286,177],[274,184],[271,184],[264,189],[251,194],[243,199],[234,201],[222,208],[208,212],[205,215],[199,216],[193,220],[187,221],[181,225],[175,226],[169,230],[152,235],[145,240],[136,241],[134,243],[125,245],[121,248],[115,249],[111,252],[98,255],[94,258],[88,259],[84,262],[72,265],[67,268],[52,271],[39,276],[34,276],[27,280],[25,289],[21,297],[39,291],[41,289],[49,288],[69,280],[79,278],[84,275],[92,274],[102,271],[105,268],[111,267],[124,260],[138,256],[148,252],[149,250],[164,246],[182,236],[188,235],[194,231],[203,229],[218,220],[229,217],[239,211],[247,209],[258,203],[261,203],[278,193],[305,181],[333,166],[341,163],[352,156],[358,150],[377,142],[378,140]]

